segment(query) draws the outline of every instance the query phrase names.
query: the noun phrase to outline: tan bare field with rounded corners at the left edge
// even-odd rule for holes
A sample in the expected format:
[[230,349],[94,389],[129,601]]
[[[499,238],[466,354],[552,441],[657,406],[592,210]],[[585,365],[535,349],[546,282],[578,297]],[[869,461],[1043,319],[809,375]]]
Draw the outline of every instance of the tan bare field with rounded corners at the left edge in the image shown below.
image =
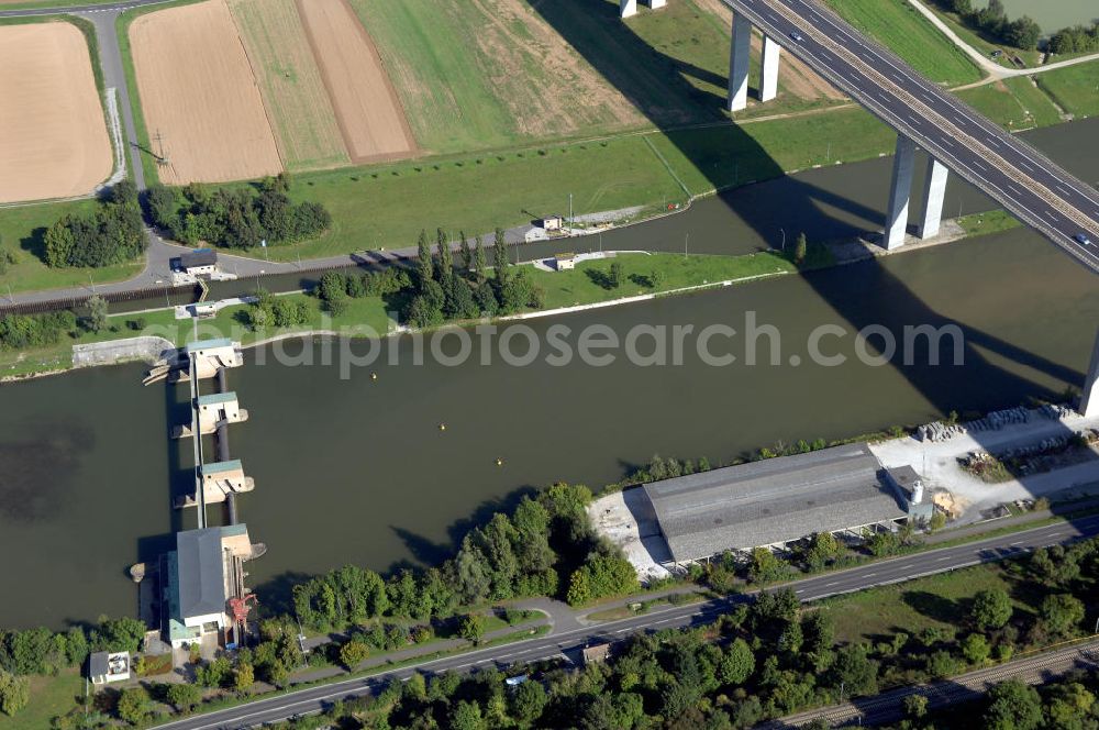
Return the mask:
[[84,34],[0,25],[0,202],[91,192],[114,158]]

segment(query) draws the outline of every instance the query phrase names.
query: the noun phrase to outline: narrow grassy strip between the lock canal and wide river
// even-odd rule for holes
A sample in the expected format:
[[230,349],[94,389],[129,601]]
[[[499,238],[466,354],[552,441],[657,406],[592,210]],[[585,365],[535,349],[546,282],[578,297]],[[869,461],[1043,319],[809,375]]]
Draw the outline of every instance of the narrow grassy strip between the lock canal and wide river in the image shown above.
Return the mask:
[[[970,236],[986,235],[1014,228],[1018,223],[1002,211],[966,215],[956,221],[944,222],[943,233],[929,241],[913,239],[909,244],[893,251],[886,251],[865,240],[833,242],[829,253],[814,262],[812,269],[847,265],[873,258],[937,246]],[[792,243],[791,243],[792,247]],[[611,266],[618,262],[621,281],[611,285]],[[590,309],[620,307],[648,301],[657,297],[675,297],[697,294],[721,287],[743,285],[752,281],[808,270],[792,264],[781,252],[758,252],[740,256],[679,255],[653,252],[607,252],[604,258],[581,262],[576,269],[553,272],[526,262],[526,270],[533,284],[545,292],[543,309],[492,318],[491,321],[509,322],[542,319],[582,312]],[[631,294],[626,294],[631,292]],[[625,296],[622,296],[625,295]],[[252,349],[273,342],[310,336],[376,338],[403,334],[408,328],[395,321],[393,313],[387,311],[386,302],[379,297],[349,299],[347,311],[333,317],[324,311],[323,305],[307,292],[287,292],[281,296],[300,298],[309,308],[309,321],[297,328],[278,332],[254,331],[244,323],[243,313],[247,305],[225,307],[213,319],[199,322],[199,335],[203,338],[227,336]],[[127,362],[148,362],[147,355],[132,355],[129,350],[118,349],[118,356],[104,356],[96,361],[86,358],[77,362],[75,354],[80,349],[93,344],[120,343],[140,340],[143,336],[159,338],[162,341],[182,346],[192,339],[190,320],[179,320],[176,307],[112,314],[111,327],[100,333],[81,332],[77,342],[27,351],[8,356],[0,353],[0,368],[7,373],[0,376],[0,384],[15,383],[35,377],[57,375],[77,367],[118,365]],[[441,327],[465,327],[469,320],[448,321]],[[131,332],[140,330],[142,335]],[[68,356],[67,355],[71,355]]]

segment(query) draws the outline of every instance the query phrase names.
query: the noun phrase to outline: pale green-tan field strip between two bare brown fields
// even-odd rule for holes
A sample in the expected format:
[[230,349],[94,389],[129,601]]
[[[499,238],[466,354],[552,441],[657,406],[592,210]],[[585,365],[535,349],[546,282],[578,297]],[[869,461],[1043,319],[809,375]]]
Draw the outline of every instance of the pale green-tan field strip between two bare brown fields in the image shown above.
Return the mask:
[[295,0],[229,0],[279,152],[291,170],[349,162]]

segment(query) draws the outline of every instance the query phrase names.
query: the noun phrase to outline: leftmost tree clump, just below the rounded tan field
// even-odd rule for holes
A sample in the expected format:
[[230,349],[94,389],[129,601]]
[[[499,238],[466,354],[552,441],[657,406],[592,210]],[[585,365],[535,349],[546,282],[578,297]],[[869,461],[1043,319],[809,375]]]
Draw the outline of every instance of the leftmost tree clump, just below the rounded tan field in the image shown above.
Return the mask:
[[89,215],[65,215],[45,233],[48,266],[101,267],[137,258],[145,251],[145,223],[137,188],[130,180],[115,185]]

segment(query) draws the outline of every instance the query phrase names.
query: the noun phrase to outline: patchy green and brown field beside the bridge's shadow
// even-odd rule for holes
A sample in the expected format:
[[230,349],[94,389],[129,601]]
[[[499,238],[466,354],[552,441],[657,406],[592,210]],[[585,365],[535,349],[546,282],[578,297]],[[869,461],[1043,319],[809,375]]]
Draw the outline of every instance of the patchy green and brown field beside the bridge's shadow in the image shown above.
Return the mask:
[[[418,143],[434,153],[645,121],[539,10],[573,2],[579,0],[351,0]],[[588,12],[588,5],[576,12]]]

